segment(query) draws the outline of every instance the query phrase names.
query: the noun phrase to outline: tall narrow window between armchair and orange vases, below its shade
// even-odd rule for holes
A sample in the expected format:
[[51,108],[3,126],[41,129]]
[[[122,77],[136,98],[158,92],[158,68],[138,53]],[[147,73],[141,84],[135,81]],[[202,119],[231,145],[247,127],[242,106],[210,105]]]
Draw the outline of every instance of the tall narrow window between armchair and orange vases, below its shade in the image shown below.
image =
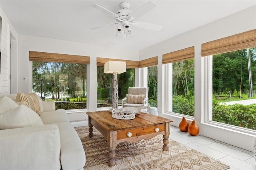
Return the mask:
[[194,116],[194,59],[168,66],[168,112]]

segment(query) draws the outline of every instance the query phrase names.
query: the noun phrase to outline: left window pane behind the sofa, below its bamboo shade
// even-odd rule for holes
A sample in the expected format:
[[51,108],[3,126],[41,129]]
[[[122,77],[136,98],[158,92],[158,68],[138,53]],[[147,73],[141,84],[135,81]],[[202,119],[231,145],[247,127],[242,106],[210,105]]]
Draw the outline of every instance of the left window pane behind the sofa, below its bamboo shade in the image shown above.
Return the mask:
[[86,109],[86,64],[33,61],[33,91],[56,109]]

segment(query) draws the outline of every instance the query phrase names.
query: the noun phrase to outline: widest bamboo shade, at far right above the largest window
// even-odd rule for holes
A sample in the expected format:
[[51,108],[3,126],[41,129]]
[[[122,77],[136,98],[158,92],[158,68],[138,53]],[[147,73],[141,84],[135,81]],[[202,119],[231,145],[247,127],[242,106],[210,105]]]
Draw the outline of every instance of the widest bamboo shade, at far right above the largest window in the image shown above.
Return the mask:
[[250,47],[256,47],[256,29],[203,43],[201,55],[204,57]]

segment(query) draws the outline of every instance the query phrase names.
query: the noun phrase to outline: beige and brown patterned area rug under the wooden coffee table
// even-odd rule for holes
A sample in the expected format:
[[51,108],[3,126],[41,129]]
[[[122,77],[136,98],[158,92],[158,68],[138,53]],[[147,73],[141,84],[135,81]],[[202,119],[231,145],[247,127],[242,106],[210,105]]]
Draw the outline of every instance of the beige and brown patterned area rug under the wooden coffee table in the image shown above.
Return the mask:
[[116,165],[108,166],[106,139],[94,128],[89,138],[88,126],[75,127],[86,153],[84,170],[226,170],[229,166],[169,139],[169,151],[163,151],[163,137],[122,142],[116,146]]

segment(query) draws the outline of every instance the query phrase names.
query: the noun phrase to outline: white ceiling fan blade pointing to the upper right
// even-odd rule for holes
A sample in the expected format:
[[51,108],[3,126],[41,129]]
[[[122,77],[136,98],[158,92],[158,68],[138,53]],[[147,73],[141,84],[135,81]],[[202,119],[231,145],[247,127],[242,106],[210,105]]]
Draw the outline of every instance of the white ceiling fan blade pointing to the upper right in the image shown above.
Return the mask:
[[134,18],[134,19],[139,18],[139,17],[143,16],[144,14],[146,14],[147,12],[149,12],[150,10],[152,10],[155,7],[156,7],[156,4],[152,1],[149,1],[146,4],[137,8],[136,10],[134,10],[132,13],[130,13],[128,15],[128,18],[130,16],[132,16],[132,18]]

